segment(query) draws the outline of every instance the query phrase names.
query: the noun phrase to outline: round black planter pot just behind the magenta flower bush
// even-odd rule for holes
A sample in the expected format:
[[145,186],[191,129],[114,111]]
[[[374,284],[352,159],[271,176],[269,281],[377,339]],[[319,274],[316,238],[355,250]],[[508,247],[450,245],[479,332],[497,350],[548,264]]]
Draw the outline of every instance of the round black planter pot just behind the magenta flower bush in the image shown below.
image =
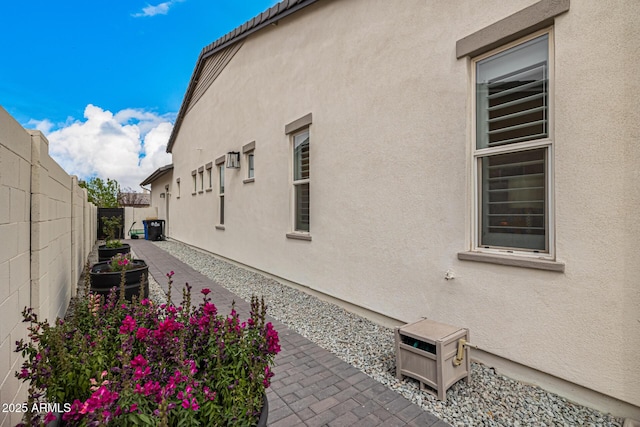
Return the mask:
[[[149,296],[149,266],[141,259],[134,259],[134,268],[127,270],[124,275],[124,297],[127,301],[131,301],[131,297],[134,295],[140,295],[140,283],[142,276],[145,276],[144,280],[144,298]],[[89,270],[91,277],[91,292],[100,295],[109,295],[109,291],[114,286],[120,296],[120,277],[122,273],[120,271],[111,271],[109,262],[99,262],[94,264]]]

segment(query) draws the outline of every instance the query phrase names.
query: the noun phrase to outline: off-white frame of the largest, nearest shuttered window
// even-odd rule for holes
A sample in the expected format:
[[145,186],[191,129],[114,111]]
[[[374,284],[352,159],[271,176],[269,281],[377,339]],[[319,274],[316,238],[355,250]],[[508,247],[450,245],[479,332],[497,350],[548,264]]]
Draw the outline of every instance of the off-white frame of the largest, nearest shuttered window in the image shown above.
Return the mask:
[[[503,52],[507,49],[510,49],[514,46],[525,43],[529,40],[540,37],[544,34],[548,35],[548,135],[543,139],[535,139],[524,142],[515,142],[511,144],[499,145],[495,147],[489,148],[477,148],[476,137],[476,64],[486,59],[490,56],[496,55],[500,52]],[[554,220],[554,94],[555,94],[555,75],[554,75],[554,42],[553,42],[553,29],[546,28],[535,33],[528,35],[527,37],[518,39],[514,42],[501,46],[495,50],[487,52],[483,55],[475,57],[471,60],[471,75],[472,75],[472,84],[471,84],[471,105],[472,105],[472,185],[473,185],[473,218],[472,218],[472,250],[475,252],[483,252],[487,254],[497,254],[497,255],[514,255],[519,257],[531,257],[545,260],[555,260],[555,220]],[[481,215],[482,208],[481,197],[482,197],[482,178],[480,176],[481,166],[480,163],[483,157],[497,155],[497,154],[506,154],[506,153],[514,153],[525,150],[532,149],[545,149],[545,158],[546,158],[546,215],[545,215],[545,227],[546,227],[546,251],[534,251],[525,248],[511,248],[511,247],[491,247],[488,245],[481,245]],[[488,247],[487,247],[488,246]]]

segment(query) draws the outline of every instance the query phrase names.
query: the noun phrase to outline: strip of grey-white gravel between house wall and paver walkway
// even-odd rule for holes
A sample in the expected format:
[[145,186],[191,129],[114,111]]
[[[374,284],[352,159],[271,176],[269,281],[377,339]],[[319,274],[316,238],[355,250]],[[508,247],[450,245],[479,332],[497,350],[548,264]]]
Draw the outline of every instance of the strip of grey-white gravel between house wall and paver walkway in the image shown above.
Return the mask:
[[[392,329],[184,244],[154,243],[246,300],[251,295],[264,296],[269,315],[454,426],[623,424],[620,418],[507,378],[479,363],[472,363],[471,382],[459,381],[448,390],[447,401],[440,402],[420,391],[417,381],[395,378]],[[174,286],[181,287],[180,277],[174,280]]]

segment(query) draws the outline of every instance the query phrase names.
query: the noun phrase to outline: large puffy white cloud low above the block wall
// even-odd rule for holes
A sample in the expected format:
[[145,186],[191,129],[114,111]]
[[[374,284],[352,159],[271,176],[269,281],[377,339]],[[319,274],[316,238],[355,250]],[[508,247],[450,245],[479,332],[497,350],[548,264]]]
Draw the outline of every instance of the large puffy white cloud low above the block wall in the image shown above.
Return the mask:
[[165,149],[173,117],[137,109],[113,114],[89,104],[84,118],[53,131],[46,119],[30,122],[46,135],[51,157],[67,173],[80,179],[111,178],[136,190],[154,170],[171,163]]

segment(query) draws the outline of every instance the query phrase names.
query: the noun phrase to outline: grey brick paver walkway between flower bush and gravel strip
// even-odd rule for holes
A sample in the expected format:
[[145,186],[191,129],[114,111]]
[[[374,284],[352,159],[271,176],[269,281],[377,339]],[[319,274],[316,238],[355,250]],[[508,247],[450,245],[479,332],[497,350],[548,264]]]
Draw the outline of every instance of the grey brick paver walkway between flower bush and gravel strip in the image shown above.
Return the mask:
[[[182,300],[181,289],[188,282],[195,304],[200,290],[209,288],[209,296],[221,313],[228,313],[235,299],[240,317],[249,316],[248,302],[152,242],[127,242],[136,256],[147,262],[149,272],[165,291],[166,274],[175,273],[172,300]],[[269,426],[449,426],[283,323],[269,321],[278,331],[282,347],[274,363],[275,377],[267,389]]]

